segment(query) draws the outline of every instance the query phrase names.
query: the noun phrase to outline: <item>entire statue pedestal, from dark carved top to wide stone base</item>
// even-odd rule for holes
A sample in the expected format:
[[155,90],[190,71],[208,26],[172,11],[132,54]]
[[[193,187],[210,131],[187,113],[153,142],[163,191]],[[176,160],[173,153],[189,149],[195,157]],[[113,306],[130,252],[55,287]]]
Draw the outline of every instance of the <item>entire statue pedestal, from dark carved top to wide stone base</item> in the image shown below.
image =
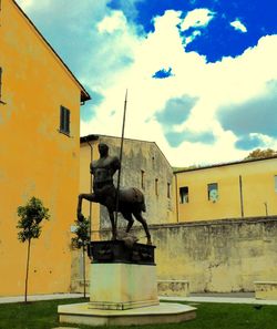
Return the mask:
[[92,243],[90,302],[59,306],[60,322],[132,326],[194,319],[193,307],[158,302],[154,249],[117,240]]

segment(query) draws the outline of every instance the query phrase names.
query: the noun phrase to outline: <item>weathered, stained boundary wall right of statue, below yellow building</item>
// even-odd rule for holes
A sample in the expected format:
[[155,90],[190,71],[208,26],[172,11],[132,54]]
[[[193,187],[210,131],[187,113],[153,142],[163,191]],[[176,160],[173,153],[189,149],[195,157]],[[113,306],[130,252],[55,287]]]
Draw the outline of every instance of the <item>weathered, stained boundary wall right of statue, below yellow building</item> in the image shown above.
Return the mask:
[[253,291],[256,280],[276,280],[276,216],[153,225],[151,234],[158,279],[188,280],[191,292]]

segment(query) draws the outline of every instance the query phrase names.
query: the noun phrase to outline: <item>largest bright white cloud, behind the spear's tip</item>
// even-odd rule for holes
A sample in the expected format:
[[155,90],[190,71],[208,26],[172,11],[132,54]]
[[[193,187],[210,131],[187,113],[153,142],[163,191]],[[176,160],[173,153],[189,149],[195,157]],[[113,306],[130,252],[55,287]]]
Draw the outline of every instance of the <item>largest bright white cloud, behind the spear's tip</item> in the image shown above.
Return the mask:
[[[166,11],[155,19],[155,31],[147,39],[129,34],[135,44],[134,62],[116,73],[116,85],[105,90],[105,101],[98,116],[82,124],[82,133],[103,133],[120,136],[125,88],[129,88],[126,136],[155,141],[173,165],[225,162],[243,158],[247,152],[235,148],[237,137],[222,128],[216,120],[220,106],[236,104],[266,91],[266,82],[277,79],[271,66],[277,56],[277,37],[261,38],[258,45],[237,58],[224,58],[222,62],[206,63],[197,53],[184,52],[176,24],[179,13]],[[114,44],[116,48],[116,45]],[[264,63],[264,65],[260,65]],[[172,68],[171,79],[152,79],[153,73]],[[166,102],[182,95],[198,97],[187,122],[172,127],[175,132],[212,132],[214,145],[184,141],[171,147],[155,113]],[[116,113],[111,116],[112,110]]]

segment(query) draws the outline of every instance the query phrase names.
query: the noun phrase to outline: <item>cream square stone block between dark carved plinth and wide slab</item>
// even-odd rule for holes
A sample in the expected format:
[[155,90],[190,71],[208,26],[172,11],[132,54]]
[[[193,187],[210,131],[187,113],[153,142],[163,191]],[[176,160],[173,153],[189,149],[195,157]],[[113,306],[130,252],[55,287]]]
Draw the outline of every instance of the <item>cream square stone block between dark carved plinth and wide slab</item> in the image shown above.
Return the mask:
[[131,309],[158,305],[156,266],[91,264],[90,305],[96,309]]

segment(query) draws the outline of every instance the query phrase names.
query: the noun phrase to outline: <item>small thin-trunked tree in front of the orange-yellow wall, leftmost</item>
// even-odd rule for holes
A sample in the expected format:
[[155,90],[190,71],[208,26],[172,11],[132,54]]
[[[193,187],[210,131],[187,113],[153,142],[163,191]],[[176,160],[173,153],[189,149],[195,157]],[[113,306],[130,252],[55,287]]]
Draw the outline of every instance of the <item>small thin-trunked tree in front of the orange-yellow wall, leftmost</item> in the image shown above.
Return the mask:
[[25,294],[24,301],[27,302],[28,294],[28,277],[29,277],[29,264],[30,264],[30,250],[31,239],[37,239],[41,234],[40,223],[42,219],[49,219],[49,209],[44,208],[42,202],[34,196],[24,205],[18,207],[18,216],[20,217],[17,228],[20,229],[18,233],[18,239],[21,243],[28,241],[27,250],[27,266],[25,266]]

